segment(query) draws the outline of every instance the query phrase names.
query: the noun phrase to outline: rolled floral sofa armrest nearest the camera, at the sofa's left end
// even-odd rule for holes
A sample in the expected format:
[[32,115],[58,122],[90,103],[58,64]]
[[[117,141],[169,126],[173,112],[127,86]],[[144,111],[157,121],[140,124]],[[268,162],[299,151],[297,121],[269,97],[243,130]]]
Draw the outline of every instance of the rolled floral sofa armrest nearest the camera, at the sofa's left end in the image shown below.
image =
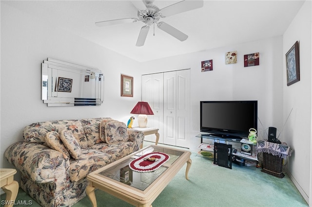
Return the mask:
[[41,144],[17,142],[5,151],[5,157],[37,183],[69,179],[69,157]]

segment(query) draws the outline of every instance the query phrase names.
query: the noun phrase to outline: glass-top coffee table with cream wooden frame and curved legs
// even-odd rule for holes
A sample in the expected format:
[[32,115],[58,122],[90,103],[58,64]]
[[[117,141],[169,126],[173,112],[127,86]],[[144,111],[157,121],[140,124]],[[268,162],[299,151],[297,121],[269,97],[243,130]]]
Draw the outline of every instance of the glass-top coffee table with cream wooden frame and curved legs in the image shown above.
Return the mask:
[[[151,153],[169,155],[169,159],[151,172],[137,172],[129,167],[133,160]],[[95,189],[103,190],[137,207],[150,207],[185,163],[185,177],[189,179],[188,172],[192,164],[190,155],[191,152],[186,150],[156,145],[145,147],[90,173],[86,193],[94,207],[97,206]],[[155,163],[157,161],[159,160]]]

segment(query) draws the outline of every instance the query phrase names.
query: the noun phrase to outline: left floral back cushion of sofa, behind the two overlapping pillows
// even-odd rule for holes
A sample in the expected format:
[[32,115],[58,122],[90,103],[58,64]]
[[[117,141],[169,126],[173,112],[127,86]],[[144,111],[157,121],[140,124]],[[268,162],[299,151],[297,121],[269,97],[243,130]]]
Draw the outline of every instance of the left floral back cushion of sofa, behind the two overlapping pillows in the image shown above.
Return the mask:
[[71,130],[80,147],[88,147],[82,124],[78,120],[44,121],[30,124],[23,130],[24,141],[46,145],[45,136],[48,132],[56,131],[60,133],[64,129]]

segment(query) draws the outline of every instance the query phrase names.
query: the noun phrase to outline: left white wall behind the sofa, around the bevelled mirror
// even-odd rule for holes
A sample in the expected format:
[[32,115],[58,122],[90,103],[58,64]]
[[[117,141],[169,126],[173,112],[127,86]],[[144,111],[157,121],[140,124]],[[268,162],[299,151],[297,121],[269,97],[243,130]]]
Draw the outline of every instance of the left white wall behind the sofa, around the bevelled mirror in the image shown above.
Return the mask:
[[[4,151],[22,140],[23,127],[33,122],[94,117],[128,121],[130,111],[141,99],[141,73],[136,70],[136,61],[49,27],[2,2],[0,168],[13,167],[4,158]],[[41,63],[47,57],[101,69],[104,103],[75,107],[43,104]],[[134,77],[133,98],[120,96],[120,73]]]

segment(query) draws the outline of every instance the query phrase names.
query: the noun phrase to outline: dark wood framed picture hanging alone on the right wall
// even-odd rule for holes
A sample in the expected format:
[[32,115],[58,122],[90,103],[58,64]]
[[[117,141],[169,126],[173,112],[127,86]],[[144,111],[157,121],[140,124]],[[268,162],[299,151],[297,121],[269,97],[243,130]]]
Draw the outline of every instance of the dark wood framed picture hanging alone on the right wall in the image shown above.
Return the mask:
[[286,53],[285,56],[286,56],[287,86],[290,86],[300,81],[298,41],[294,43],[292,48]]

